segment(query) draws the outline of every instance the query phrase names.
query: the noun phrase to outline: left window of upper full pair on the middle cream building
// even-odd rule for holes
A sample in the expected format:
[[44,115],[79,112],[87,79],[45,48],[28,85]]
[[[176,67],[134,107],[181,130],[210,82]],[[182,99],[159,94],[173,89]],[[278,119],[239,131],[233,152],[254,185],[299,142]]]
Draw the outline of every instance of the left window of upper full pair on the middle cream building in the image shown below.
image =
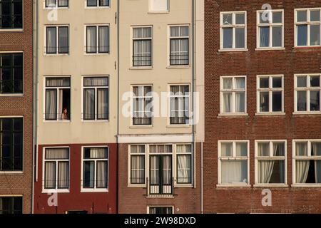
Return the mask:
[[152,66],[152,27],[133,28],[133,66]]

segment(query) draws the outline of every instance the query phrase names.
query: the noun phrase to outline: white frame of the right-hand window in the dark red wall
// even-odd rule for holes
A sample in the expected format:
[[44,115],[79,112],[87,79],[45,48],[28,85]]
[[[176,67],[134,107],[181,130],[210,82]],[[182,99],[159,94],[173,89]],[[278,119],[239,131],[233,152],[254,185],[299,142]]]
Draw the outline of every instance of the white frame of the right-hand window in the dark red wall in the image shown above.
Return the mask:
[[[83,158],[83,152],[85,148],[107,148],[107,158]],[[109,191],[109,176],[110,176],[110,170],[109,170],[109,147],[108,145],[86,145],[81,147],[81,192],[108,192]],[[93,188],[84,188],[83,187],[83,162],[85,161],[93,161],[95,162],[95,169],[94,169],[94,180],[93,180]],[[97,188],[97,180],[96,180],[96,172],[97,172],[97,162],[98,161],[107,161],[107,188]]]

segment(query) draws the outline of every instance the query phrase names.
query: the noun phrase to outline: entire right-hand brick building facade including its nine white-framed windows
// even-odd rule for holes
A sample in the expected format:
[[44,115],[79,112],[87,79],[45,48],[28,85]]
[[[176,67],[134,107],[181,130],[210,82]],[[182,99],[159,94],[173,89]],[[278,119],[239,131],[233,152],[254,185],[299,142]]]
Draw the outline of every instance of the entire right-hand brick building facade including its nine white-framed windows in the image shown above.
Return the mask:
[[205,1],[205,213],[321,212],[321,1],[265,3]]

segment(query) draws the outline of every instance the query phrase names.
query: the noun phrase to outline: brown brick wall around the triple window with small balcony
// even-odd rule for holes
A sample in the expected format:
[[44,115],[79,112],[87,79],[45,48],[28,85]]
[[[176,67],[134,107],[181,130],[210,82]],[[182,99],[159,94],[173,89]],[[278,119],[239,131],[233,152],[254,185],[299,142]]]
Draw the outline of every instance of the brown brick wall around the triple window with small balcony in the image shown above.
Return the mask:
[[175,214],[200,213],[200,144],[196,146],[196,187],[175,188],[174,198],[146,198],[146,188],[128,187],[128,144],[119,145],[118,212],[146,214],[147,206],[174,206]]

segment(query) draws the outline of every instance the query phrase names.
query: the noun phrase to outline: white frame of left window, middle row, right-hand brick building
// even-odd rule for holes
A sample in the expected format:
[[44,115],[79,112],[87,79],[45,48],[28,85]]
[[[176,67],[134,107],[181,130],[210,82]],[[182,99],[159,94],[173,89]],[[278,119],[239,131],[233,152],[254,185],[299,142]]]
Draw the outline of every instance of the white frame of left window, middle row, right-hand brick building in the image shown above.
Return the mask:
[[[231,89],[224,89],[223,88],[223,79],[224,78],[232,78],[232,88]],[[235,79],[236,78],[244,78],[245,79],[245,88],[235,88]],[[220,76],[220,113],[218,115],[248,115],[248,99],[247,99],[247,81],[246,81],[246,76]],[[232,93],[232,112],[230,113],[223,113],[223,93]],[[245,112],[244,113],[237,113],[235,112],[235,93],[240,93],[244,92],[245,93]]]

